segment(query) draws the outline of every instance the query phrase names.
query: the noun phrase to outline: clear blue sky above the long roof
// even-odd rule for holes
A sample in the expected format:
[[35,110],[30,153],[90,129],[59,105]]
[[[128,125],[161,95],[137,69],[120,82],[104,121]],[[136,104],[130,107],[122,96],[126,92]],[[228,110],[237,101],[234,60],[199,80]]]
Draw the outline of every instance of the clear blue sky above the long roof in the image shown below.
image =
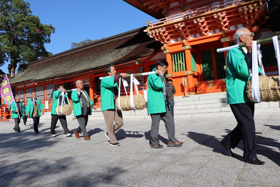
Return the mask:
[[[51,43],[45,44],[48,52],[57,54],[69,50],[72,42],[97,40],[127,32],[155,18],[143,13],[122,0],[25,0],[32,15],[41,23],[53,25]],[[1,67],[8,73],[8,62]]]

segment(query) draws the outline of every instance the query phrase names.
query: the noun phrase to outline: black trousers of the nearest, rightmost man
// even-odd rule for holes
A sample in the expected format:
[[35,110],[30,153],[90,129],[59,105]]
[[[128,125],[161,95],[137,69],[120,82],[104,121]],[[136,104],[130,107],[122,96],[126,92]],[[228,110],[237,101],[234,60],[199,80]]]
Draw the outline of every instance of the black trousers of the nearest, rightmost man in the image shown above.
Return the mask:
[[222,142],[234,149],[242,140],[244,144],[243,158],[245,160],[256,159],[257,154],[254,150],[256,134],[254,121],[255,104],[248,102],[229,106],[237,121],[237,126],[222,140]]

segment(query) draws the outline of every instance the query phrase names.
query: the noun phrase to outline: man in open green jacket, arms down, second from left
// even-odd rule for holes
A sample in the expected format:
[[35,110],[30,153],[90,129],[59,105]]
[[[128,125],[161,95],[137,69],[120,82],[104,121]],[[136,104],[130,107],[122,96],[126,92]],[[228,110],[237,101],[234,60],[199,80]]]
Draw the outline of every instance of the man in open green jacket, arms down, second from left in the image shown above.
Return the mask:
[[34,132],[38,134],[39,133],[38,125],[40,121],[40,116],[41,113],[42,115],[45,114],[44,113],[45,106],[43,105],[40,99],[37,99],[36,92],[32,92],[31,97],[32,98],[28,100],[26,111],[27,111],[27,116],[32,117],[33,119]]

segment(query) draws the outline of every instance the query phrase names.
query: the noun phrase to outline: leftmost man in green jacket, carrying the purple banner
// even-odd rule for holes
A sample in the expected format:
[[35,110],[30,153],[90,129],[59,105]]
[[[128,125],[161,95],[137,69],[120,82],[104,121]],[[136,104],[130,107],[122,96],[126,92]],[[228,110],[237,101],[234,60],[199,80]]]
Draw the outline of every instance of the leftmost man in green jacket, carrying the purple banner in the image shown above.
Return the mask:
[[20,133],[20,127],[19,127],[20,120],[25,115],[23,113],[23,108],[19,100],[20,97],[16,95],[15,102],[11,104],[12,117],[15,120],[15,127],[13,129],[18,133]]

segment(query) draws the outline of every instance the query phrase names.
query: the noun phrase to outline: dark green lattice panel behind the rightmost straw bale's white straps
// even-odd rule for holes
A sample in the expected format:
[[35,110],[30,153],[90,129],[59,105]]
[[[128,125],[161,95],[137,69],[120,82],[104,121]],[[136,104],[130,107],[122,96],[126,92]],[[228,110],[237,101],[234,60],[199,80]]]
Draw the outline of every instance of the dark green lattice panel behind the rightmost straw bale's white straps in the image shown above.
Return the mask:
[[275,58],[275,50],[273,44],[262,45],[261,54],[263,55],[261,61],[263,62],[264,67],[277,65],[277,59]]

